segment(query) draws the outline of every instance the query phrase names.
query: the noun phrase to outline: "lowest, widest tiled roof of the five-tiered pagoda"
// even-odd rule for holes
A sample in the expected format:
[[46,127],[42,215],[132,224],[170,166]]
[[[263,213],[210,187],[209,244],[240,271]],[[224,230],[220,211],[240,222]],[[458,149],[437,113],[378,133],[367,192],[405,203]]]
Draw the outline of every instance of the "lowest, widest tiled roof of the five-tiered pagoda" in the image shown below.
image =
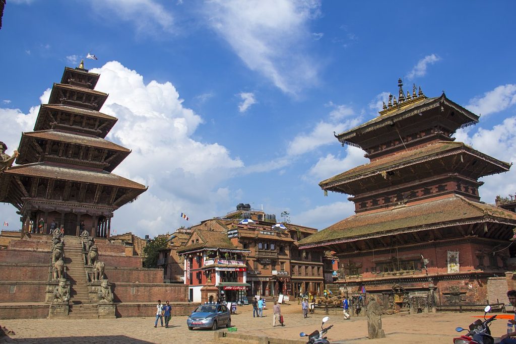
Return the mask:
[[144,185],[133,182],[114,173],[105,171],[85,171],[65,167],[45,165],[42,162],[27,165],[14,166],[5,171],[6,174],[17,174],[27,176],[37,176],[44,178],[59,178],[73,182],[83,182],[91,184],[112,185],[123,188],[147,190]]

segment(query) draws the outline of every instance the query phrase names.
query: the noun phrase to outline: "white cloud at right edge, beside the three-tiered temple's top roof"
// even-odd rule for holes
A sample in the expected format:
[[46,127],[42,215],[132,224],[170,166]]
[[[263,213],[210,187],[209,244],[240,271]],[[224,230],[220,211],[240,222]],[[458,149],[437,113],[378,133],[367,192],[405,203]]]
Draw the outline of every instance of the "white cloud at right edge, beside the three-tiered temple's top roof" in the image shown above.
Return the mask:
[[485,116],[493,112],[503,111],[514,104],[516,104],[516,85],[507,84],[484,93],[482,97],[475,97],[470,100],[466,108],[476,114]]

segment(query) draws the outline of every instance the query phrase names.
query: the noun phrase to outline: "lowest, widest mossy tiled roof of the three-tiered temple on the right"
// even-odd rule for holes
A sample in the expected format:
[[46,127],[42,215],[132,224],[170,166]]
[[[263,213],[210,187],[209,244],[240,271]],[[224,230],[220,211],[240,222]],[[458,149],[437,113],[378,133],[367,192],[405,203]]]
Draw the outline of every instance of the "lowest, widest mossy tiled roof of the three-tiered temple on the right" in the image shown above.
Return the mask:
[[299,241],[300,248],[334,241],[354,241],[368,237],[451,226],[464,222],[499,221],[516,225],[514,212],[494,205],[481,204],[453,195],[425,203],[398,206],[387,210],[352,215]]

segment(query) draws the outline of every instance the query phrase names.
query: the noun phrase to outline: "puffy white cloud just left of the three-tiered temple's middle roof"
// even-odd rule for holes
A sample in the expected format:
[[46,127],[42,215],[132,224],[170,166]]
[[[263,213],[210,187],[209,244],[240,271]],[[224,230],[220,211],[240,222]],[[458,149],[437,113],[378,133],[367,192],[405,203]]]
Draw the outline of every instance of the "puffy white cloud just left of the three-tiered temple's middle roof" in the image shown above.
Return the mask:
[[314,182],[318,183],[338,173],[367,163],[369,160],[364,157],[364,154],[365,152],[362,149],[347,145],[344,158],[339,159],[333,154],[321,157],[317,163],[310,168],[308,175],[314,179]]

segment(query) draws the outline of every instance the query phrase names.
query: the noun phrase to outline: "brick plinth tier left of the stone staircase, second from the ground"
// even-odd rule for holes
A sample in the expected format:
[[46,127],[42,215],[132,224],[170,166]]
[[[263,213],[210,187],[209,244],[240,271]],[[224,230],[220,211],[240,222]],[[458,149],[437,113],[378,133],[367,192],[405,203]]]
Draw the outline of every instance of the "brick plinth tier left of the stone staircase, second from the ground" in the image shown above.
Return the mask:
[[[11,286],[15,286],[11,293]],[[0,282],[0,303],[45,302],[46,282]]]

